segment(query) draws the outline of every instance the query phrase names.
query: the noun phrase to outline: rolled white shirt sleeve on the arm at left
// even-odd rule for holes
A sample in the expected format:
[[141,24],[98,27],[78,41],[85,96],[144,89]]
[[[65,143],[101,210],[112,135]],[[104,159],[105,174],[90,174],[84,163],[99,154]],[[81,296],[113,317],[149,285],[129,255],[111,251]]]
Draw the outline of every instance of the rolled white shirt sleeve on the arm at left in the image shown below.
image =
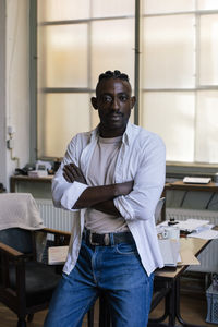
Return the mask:
[[81,194],[88,187],[87,184],[73,182],[69,183],[63,178],[63,167],[70,162],[74,162],[78,166],[80,150],[77,148],[80,144],[77,136],[75,136],[69,144],[65,156],[55,178],[52,179],[52,199],[56,207],[68,209],[71,211],[77,211],[72,209]]

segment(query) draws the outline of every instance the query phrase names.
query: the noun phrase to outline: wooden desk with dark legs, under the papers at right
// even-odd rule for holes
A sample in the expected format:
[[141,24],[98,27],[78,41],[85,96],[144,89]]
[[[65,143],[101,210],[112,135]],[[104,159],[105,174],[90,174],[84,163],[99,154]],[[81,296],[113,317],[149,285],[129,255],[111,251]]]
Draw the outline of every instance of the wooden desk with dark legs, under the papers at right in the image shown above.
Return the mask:
[[[192,252],[197,256],[210,242],[209,240],[202,240],[195,238],[182,238],[180,239],[180,244],[182,250],[192,250]],[[148,322],[148,327],[161,327],[170,326],[174,327],[177,320],[185,327],[199,327],[193,324],[189,324],[183,320],[180,313],[180,277],[182,272],[189,267],[189,265],[183,265],[177,267],[177,270],[170,271],[167,268],[158,269],[155,272],[155,283],[159,282],[168,287],[169,292],[165,296],[165,313],[161,317],[150,318]],[[162,322],[168,317],[168,324]]]

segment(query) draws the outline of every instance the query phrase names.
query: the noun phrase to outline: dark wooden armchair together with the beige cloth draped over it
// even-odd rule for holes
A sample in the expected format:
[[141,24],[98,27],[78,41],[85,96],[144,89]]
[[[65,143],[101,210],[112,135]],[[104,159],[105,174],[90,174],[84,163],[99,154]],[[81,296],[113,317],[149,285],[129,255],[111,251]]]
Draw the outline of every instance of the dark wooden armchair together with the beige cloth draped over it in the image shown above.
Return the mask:
[[61,277],[62,266],[45,259],[46,244],[69,245],[71,233],[45,228],[29,193],[1,194],[0,208],[0,302],[17,315],[17,327],[25,327],[26,317],[48,307]]

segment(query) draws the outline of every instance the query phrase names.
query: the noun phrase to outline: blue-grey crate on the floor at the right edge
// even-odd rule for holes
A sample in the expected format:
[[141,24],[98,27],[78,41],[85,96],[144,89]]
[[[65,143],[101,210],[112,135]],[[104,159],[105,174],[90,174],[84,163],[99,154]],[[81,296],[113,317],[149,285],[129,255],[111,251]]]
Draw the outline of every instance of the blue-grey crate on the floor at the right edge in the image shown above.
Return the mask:
[[206,291],[207,296],[207,317],[206,322],[218,324],[218,275],[213,274],[211,284]]

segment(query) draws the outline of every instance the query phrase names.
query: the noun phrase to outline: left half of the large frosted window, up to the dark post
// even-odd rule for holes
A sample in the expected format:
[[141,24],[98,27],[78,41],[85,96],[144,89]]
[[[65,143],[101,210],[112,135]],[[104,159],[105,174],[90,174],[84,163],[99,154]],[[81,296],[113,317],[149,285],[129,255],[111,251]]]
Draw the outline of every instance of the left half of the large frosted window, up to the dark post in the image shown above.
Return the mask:
[[101,72],[134,82],[134,35],[132,0],[38,1],[38,157],[62,157],[98,123],[90,97]]

